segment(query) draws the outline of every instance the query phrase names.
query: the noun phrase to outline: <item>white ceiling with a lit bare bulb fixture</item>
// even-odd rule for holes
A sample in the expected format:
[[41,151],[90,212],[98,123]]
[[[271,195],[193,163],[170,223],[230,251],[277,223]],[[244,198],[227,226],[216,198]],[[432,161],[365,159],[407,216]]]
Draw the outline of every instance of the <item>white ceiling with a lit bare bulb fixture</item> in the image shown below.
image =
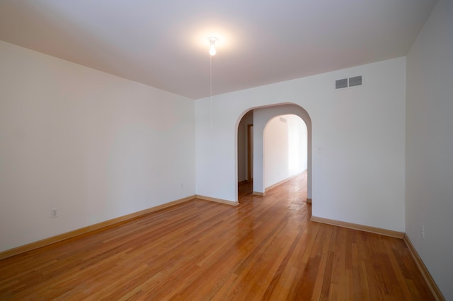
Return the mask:
[[188,98],[406,55],[436,0],[0,0],[0,40]]

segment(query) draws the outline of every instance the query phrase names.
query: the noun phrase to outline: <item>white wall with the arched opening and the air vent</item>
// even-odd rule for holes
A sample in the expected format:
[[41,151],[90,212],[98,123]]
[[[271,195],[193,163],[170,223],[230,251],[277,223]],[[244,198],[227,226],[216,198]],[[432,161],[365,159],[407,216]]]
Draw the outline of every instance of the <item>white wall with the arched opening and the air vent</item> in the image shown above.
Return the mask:
[[[362,87],[334,89],[357,75]],[[237,201],[239,120],[251,108],[294,103],[312,122],[313,215],[404,231],[405,99],[401,57],[214,96],[212,126],[209,98],[197,100],[197,194]]]

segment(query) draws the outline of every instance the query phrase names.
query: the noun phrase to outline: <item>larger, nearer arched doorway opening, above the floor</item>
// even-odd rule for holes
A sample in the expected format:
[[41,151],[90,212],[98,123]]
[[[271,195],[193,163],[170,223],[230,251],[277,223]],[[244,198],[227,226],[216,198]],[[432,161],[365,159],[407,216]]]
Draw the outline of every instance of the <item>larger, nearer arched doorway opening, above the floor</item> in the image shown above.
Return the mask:
[[311,119],[306,110],[293,104],[251,108],[238,122],[238,196],[244,195],[243,187],[264,196],[306,170],[305,199],[311,202]]

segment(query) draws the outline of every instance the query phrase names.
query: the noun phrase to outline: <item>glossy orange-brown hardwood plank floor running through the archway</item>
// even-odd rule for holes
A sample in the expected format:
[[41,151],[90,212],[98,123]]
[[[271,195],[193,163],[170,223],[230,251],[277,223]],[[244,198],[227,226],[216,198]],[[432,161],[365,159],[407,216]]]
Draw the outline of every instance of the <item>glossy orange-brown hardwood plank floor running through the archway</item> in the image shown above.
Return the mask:
[[309,220],[306,174],[0,261],[0,300],[434,300],[403,240]]

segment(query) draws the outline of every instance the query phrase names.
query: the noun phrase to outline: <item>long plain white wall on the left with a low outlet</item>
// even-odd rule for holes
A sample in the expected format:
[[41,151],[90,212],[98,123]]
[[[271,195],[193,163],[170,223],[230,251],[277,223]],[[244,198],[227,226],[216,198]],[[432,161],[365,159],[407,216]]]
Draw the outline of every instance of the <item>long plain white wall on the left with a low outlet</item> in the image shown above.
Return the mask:
[[193,100],[0,42],[0,251],[194,195],[194,114]]

